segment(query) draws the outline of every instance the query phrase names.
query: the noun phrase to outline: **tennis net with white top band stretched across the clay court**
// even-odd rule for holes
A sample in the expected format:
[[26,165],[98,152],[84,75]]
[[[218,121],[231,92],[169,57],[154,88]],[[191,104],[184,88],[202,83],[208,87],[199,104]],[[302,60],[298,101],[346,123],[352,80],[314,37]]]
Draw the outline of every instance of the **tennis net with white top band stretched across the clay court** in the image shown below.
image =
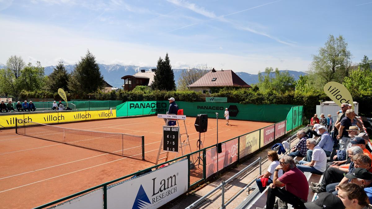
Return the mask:
[[144,136],[62,128],[16,119],[16,134],[145,160]]

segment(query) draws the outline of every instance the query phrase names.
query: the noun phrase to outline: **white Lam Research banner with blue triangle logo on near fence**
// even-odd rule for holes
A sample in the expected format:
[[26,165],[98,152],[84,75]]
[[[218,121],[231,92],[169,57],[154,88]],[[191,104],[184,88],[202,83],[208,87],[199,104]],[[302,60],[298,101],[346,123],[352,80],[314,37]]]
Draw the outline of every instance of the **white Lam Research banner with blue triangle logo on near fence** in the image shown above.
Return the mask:
[[107,208],[159,208],[187,192],[187,166],[185,159],[108,188]]

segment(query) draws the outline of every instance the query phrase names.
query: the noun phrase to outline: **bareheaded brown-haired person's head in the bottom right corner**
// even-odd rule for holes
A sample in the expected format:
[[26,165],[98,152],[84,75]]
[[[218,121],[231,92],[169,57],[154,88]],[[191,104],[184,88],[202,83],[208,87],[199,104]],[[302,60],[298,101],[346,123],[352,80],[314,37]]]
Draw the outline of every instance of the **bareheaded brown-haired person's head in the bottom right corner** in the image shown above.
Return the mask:
[[367,194],[363,188],[356,184],[341,184],[338,194],[345,209],[368,209],[371,208],[368,204]]

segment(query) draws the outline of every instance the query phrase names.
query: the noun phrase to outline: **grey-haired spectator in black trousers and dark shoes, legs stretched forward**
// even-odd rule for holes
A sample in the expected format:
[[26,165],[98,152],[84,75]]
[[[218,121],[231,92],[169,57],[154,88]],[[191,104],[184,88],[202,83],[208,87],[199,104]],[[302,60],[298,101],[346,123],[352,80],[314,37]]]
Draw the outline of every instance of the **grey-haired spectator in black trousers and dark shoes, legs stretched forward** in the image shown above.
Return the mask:
[[[349,164],[349,168],[344,169],[338,165],[330,165],[330,167],[328,167],[324,171],[324,176],[323,176],[323,180],[321,183],[310,182],[311,186],[309,187],[313,192],[316,192],[316,193],[325,192],[326,186],[328,186],[329,184],[340,182],[343,179],[345,174],[347,174],[348,172],[350,173],[354,170],[354,167],[355,167],[354,160],[357,160],[357,159],[353,160],[353,158],[357,154],[363,155],[363,150],[360,147],[352,147],[349,150],[347,150],[347,152],[349,154],[349,157],[352,158],[352,161]],[[357,164],[360,164],[359,161],[357,162]]]

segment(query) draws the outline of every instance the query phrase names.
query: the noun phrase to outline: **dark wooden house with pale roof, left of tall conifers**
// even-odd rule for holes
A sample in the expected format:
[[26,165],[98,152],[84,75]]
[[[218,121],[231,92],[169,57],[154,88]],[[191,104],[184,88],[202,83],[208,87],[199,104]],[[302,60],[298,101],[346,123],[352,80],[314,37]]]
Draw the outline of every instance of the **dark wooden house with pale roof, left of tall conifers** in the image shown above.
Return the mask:
[[124,80],[123,89],[127,91],[133,90],[136,86],[147,86],[151,89],[151,85],[154,83],[155,70],[151,71],[141,70],[134,75],[125,75],[121,77]]

